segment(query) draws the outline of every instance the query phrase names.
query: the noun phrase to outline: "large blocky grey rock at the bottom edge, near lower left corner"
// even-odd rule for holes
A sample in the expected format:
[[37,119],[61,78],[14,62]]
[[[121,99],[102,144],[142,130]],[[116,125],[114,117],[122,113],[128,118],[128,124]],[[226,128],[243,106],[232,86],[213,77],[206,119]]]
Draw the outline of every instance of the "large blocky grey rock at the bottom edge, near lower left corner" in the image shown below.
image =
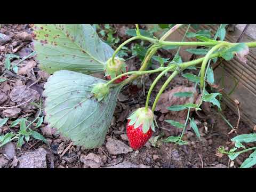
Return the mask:
[[47,151],[38,148],[19,157],[19,168],[46,168]]

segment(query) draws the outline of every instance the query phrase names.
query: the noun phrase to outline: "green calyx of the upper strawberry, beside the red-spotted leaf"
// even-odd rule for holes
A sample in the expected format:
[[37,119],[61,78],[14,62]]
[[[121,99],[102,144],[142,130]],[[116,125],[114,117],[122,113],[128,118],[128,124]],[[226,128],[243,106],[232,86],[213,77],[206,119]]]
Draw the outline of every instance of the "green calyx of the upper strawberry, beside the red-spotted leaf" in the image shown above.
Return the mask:
[[[125,60],[122,58],[115,58],[115,62],[112,61],[112,59],[108,59],[105,65],[105,76],[108,80],[113,79],[117,77],[118,75],[121,75],[123,73],[126,73],[128,71],[128,68],[125,64]],[[127,76],[123,76],[120,79],[124,81]],[[119,79],[117,79],[119,80]],[[121,81],[121,82],[122,82]],[[115,81],[117,83],[118,81]],[[118,82],[119,83],[119,82]]]

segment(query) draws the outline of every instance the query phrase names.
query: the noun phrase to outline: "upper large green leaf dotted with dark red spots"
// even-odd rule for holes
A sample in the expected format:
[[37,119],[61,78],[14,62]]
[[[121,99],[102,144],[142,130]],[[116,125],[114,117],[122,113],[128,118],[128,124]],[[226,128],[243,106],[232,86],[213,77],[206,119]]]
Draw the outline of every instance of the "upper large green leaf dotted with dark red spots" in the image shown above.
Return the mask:
[[114,53],[90,24],[36,24],[33,28],[37,60],[50,74],[62,69],[85,74],[103,71]]

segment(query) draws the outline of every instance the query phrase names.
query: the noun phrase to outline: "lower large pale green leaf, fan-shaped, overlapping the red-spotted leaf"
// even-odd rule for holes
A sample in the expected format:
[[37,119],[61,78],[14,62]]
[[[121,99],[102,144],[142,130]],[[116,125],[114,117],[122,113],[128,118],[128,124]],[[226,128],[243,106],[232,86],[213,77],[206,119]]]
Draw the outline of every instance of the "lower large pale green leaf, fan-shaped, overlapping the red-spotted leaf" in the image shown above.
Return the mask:
[[74,71],[60,70],[44,88],[45,121],[63,135],[87,149],[101,146],[113,117],[121,86],[110,89],[100,102],[91,93],[92,85],[106,82]]

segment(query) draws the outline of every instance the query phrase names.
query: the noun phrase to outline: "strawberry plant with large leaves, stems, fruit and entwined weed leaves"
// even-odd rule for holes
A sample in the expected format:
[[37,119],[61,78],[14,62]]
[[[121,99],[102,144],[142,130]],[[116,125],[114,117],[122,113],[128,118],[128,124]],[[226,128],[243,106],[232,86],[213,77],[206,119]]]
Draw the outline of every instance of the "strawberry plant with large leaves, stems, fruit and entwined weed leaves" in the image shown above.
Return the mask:
[[[161,24],[163,29],[161,38],[156,38],[153,33],[139,29],[128,31],[131,38],[122,42],[116,50],[103,42],[94,28],[89,24],[64,25],[45,24],[31,25],[34,28],[34,48],[37,52],[37,60],[42,70],[53,74],[45,84],[45,121],[50,126],[57,128],[63,135],[74,141],[75,145],[83,145],[87,149],[99,147],[105,140],[108,127],[114,114],[116,101],[122,88],[145,74],[158,73],[147,93],[145,107],[137,109],[128,119],[127,135],[130,145],[139,149],[145,145],[155,131],[154,111],[161,94],[167,85],[178,74],[182,74],[188,81],[199,85],[201,98],[198,103],[171,106],[171,111],[188,110],[185,124],[166,119],[167,122],[183,129],[179,137],[163,139],[164,142],[174,142],[178,145],[186,145],[182,140],[186,125],[190,122],[191,128],[199,138],[199,132],[189,114],[191,110],[201,110],[203,102],[210,102],[221,110],[218,98],[220,93],[209,93],[205,87],[214,84],[214,75],[211,61],[218,58],[230,60],[232,58],[245,58],[250,47],[256,47],[256,42],[230,43],[223,41],[226,35],[226,24],[219,25],[217,33],[212,37],[211,31],[199,30],[197,33],[188,33],[190,27],[198,28],[198,25]],[[95,27],[95,26],[94,26]],[[166,41],[175,30],[186,27],[186,36],[195,37],[198,41],[180,42]],[[154,28],[151,30],[155,30]],[[105,35],[101,32],[101,35]],[[133,49],[134,55],[141,59],[141,67],[138,71],[127,71],[126,62],[118,55],[124,50],[125,45],[131,42],[149,42],[149,47]],[[179,56],[180,46],[198,46],[198,49],[188,49],[188,52],[204,55],[196,60],[183,62]],[[202,48],[203,47],[203,48]],[[140,48],[140,49],[139,49]],[[159,49],[178,49],[173,60],[156,56]],[[159,66],[149,68],[151,60],[159,63]],[[201,66],[200,66],[201,64]],[[183,73],[185,69],[201,68],[198,76]],[[152,69],[153,68],[153,69]],[[105,73],[109,81],[90,76],[93,73]],[[169,75],[169,73],[171,73]],[[156,95],[153,105],[149,106],[151,93],[156,83],[167,75],[166,82]],[[191,97],[191,92],[177,93],[177,97]]]

